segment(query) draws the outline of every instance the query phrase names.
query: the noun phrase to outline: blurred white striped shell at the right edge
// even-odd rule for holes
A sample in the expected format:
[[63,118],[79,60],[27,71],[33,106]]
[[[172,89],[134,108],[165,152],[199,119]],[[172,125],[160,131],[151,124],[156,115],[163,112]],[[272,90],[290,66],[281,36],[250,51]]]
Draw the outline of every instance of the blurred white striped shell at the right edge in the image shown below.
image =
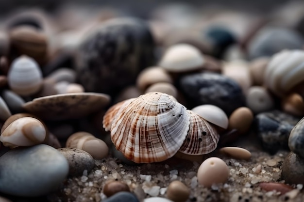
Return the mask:
[[284,50],[270,59],[265,70],[264,84],[273,93],[284,95],[303,81],[304,51]]

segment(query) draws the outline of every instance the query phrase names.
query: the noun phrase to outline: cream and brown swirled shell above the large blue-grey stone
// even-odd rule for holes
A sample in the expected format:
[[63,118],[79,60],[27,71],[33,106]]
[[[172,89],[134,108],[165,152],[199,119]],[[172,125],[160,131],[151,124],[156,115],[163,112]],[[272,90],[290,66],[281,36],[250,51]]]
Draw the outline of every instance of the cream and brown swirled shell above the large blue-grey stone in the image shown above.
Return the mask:
[[45,141],[47,130],[43,123],[32,117],[19,118],[9,124],[1,133],[0,141],[4,146],[32,146]]

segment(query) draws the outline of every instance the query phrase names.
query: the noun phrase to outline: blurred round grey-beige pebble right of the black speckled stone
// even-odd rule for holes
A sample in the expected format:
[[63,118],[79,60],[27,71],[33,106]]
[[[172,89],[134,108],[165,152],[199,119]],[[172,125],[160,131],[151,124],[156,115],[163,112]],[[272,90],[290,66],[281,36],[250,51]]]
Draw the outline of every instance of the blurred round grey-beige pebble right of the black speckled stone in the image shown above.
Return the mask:
[[252,86],[246,95],[246,104],[253,113],[265,112],[274,108],[270,93],[262,86]]

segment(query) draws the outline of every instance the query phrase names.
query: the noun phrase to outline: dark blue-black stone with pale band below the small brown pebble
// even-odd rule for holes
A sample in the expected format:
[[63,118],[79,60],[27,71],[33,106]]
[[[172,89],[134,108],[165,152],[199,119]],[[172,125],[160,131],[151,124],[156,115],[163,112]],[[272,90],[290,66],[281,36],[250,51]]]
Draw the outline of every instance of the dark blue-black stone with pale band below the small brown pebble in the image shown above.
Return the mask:
[[280,149],[288,149],[288,136],[299,118],[279,110],[259,113],[254,125],[263,148],[271,154]]

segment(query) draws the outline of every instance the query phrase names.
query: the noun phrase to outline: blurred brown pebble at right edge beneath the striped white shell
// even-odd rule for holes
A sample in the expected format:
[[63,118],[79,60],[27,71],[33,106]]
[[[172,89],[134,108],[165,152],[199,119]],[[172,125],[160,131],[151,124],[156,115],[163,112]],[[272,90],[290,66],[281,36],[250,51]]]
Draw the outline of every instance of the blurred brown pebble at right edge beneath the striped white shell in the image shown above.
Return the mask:
[[292,114],[294,116],[304,115],[304,101],[301,95],[297,93],[289,94],[282,99],[283,111]]

